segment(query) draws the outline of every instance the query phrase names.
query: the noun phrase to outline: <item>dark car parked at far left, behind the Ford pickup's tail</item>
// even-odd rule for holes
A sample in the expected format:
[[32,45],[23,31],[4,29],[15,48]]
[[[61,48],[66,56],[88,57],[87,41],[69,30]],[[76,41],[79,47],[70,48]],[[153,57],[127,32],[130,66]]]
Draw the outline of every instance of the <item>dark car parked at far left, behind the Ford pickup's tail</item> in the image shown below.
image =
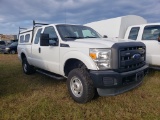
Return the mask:
[[18,42],[12,42],[11,44],[7,45],[7,46],[3,46],[1,48],[1,52],[2,53],[10,53],[10,54],[16,54],[17,53],[17,46],[18,46]]

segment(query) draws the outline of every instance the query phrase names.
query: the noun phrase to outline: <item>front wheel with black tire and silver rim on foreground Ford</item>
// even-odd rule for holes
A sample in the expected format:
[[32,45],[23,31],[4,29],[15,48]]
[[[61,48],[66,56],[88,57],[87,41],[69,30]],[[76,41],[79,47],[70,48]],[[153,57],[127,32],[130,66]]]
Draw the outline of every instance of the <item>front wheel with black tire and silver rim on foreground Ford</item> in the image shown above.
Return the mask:
[[88,72],[82,68],[73,69],[67,79],[67,87],[72,99],[78,103],[86,103],[93,99],[95,88]]

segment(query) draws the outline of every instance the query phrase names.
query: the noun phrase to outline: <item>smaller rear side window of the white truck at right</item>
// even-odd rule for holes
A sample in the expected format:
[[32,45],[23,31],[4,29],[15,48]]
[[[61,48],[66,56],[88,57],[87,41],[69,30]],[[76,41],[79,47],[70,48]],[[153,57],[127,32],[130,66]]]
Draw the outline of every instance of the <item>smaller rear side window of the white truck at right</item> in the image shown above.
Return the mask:
[[129,33],[128,39],[136,40],[138,37],[139,27],[133,27]]

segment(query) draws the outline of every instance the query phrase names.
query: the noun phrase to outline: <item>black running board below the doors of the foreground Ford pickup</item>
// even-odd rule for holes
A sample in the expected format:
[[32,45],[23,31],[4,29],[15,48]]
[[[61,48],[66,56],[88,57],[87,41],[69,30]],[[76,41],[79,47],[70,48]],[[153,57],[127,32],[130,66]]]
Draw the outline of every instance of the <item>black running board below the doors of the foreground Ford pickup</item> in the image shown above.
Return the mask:
[[51,78],[57,79],[57,80],[65,79],[65,77],[63,77],[63,76],[60,76],[60,75],[57,75],[57,74],[54,74],[54,73],[51,73],[51,72],[48,72],[48,71],[44,71],[44,70],[40,70],[40,69],[37,69],[36,71],[41,73],[41,74],[44,74],[46,76],[49,76]]

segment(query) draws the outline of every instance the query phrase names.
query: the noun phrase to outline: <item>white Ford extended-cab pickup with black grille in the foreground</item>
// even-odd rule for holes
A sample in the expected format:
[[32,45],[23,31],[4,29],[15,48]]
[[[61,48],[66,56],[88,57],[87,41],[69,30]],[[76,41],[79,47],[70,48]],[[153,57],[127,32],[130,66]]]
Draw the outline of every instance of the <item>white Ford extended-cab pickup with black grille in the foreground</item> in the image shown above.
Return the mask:
[[146,47],[141,42],[102,38],[82,25],[42,24],[19,32],[18,57],[23,71],[67,78],[78,103],[135,88],[147,73]]

